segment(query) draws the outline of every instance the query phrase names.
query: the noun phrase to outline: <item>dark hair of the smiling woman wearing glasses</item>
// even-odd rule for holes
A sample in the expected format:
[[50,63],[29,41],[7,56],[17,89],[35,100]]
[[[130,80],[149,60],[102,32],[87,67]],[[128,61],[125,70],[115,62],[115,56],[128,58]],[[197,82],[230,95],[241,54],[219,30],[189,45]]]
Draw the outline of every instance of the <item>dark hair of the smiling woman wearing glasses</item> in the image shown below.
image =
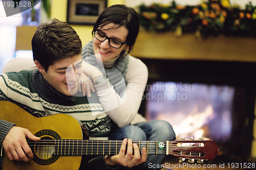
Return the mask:
[[109,23],[114,23],[114,26],[109,30],[117,29],[124,26],[129,32],[126,37],[127,45],[129,45],[129,52],[131,52],[132,47],[139,33],[140,21],[137,12],[125,5],[113,5],[106,8],[98,17],[94,27],[92,35],[99,27],[104,27]]

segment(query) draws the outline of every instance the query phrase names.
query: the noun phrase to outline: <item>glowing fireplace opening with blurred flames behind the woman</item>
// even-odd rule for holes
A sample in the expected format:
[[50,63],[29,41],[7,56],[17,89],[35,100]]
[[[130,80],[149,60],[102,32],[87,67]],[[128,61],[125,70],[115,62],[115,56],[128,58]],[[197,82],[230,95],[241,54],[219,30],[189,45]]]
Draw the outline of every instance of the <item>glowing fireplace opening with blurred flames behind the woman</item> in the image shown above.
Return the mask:
[[169,122],[176,138],[227,142],[231,137],[234,87],[175,82],[147,86],[147,120]]

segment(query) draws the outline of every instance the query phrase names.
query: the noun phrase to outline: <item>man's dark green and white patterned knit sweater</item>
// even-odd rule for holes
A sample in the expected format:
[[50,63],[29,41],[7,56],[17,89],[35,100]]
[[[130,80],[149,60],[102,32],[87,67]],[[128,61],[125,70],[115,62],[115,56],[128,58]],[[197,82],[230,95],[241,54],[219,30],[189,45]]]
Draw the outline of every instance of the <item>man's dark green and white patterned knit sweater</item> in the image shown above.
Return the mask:
[[[79,95],[78,95],[79,96]],[[90,104],[87,97],[67,96],[56,91],[37,71],[8,72],[0,75],[0,101],[9,101],[36,117],[66,113],[80,120],[88,129],[89,136],[108,136],[112,121],[104,112],[99,100]],[[95,116],[92,112],[96,113]],[[0,145],[14,125],[0,120]],[[94,159],[104,169],[103,157]],[[94,162],[91,161],[91,162]],[[94,166],[94,169],[96,167]],[[105,166],[106,169],[109,169]],[[96,168],[97,169],[97,168]]]

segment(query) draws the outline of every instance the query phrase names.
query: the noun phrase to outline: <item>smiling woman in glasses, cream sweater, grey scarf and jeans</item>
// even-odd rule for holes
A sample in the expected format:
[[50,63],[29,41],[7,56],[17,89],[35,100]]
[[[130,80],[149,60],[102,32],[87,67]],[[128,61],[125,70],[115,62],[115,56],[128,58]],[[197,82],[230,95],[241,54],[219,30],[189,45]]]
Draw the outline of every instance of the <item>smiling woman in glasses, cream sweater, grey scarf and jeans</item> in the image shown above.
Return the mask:
[[[138,32],[139,17],[133,8],[114,5],[99,15],[92,31],[94,38],[82,49],[85,61],[85,75],[80,80],[82,90],[87,93],[88,99],[97,94],[106,114],[117,125],[112,127],[109,139],[172,141],[176,137],[169,123],[164,120],[146,122],[138,113],[148,77],[145,64],[129,55]],[[16,68],[36,69],[31,59],[17,58],[10,61],[3,72],[18,71]],[[92,72],[104,76],[92,82],[88,78]],[[148,163],[162,164],[164,159],[164,156],[148,155],[145,163],[133,169],[147,169]]]

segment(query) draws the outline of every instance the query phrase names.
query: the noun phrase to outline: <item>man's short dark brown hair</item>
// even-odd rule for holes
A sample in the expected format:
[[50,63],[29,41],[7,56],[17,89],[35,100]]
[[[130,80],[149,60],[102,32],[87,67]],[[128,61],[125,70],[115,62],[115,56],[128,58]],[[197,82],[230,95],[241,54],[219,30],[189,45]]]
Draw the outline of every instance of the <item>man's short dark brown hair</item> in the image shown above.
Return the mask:
[[82,43],[76,31],[67,22],[54,18],[42,23],[32,41],[33,59],[47,71],[55,61],[81,54]]

